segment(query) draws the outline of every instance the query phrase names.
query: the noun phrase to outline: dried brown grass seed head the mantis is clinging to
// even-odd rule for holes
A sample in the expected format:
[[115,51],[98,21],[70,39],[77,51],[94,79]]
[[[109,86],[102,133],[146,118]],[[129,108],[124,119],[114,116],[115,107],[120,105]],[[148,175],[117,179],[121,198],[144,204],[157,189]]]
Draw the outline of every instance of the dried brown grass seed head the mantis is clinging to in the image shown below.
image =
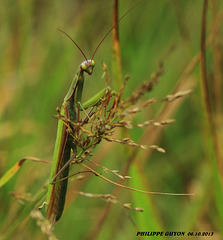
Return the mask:
[[[107,74],[106,64],[103,63],[104,74],[103,77],[106,76],[106,84],[109,82],[109,77]],[[78,121],[72,122],[67,117],[60,114],[60,109],[57,108],[57,115],[55,116],[57,119],[61,119],[64,124],[68,127],[69,134],[73,138],[74,144],[77,146],[78,151],[74,156],[64,165],[64,167],[60,170],[58,174],[61,173],[68,165],[71,164],[79,164],[85,168],[83,171],[78,171],[71,176],[91,172],[96,176],[103,178],[104,180],[115,184],[116,186],[120,186],[129,190],[134,190],[143,193],[149,194],[162,194],[162,195],[191,195],[191,194],[177,194],[177,193],[160,193],[160,192],[147,192],[142,190],[133,189],[131,187],[127,187],[121,185],[119,183],[113,182],[106,177],[102,176],[98,172],[96,172],[93,168],[89,167],[84,162],[91,162],[90,157],[92,156],[92,150],[100,144],[101,141],[107,141],[111,143],[119,143],[122,145],[128,145],[134,148],[142,148],[142,149],[155,149],[159,152],[164,153],[165,150],[157,145],[142,145],[134,142],[131,138],[122,138],[117,139],[114,137],[114,132],[116,128],[124,128],[124,129],[132,129],[134,127],[147,127],[149,125],[154,126],[163,126],[168,125],[174,122],[173,119],[165,119],[160,122],[154,120],[146,120],[143,123],[133,124],[134,116],[142,112],[144,108],[155,104],[161,101],[174,101],[179,97],[183,97],[190,93],[190,90],[177,92],[174,95],[168,95],[162,99],[152,98],[149,100],[143,100],[143,97],[146,93],[150,92],[153,87],[158,83],[159,77],[164,74],[163,64],[159,64],[158,71],[151,75],[150,81],[145,81],[140,84],[137,89],[126,99],[123,97],[123,92],[125,90],[126,84],[130,78],[130,76],[126,76],[124,83],[118,92],[112,91],[110,87],[107,87],[107,91],[104,96],[100,99],[100,101],[90,107],[90,109],[83,109],[82,113],[78,113]],[[82,116],[82,117],[81,117]],[[92,164],[95,164],[91,162]],[[99,164],[95,164],[97,167],[101,167],[106,172],[111,172],[118,176],[121,179],[130,178],[129,176],[122,176],[117,173],[115,170],[110,170],[106,167],[103,167]],[[87,170],[86,170],[87,169]],[[57,176],[57,175],[56,175]],[[55,176],[55,178],[56,178]],[[69,176],[69,177],[71,177]],[[63,181],[61,179],[60,181]]]

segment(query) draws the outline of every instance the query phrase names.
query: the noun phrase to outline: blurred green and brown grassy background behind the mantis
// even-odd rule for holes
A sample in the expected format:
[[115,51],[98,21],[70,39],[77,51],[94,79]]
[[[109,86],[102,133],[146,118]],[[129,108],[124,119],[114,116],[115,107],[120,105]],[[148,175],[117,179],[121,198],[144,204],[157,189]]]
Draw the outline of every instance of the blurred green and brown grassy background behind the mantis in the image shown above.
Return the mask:
[[[134,0],[120,1],[120,16],[134,4]],[[101,199],[75,194],[76,191],[108,194],[113,193],[115,186],[95,176],[88,176],[86,181],[71,179],[67,206],[54,229],[58,239],[136,239],[137,230],[132,221],[139,231],[214,231],[214,238],[210,239],[222,239],[221,188],[213,178],[222,169],[213,167],[215,160],[208,154],[213,149],[209,149],[205,137],[199,63],[185,74],[199,53],[202,8],[202,0],[145,0],[119,25],[123,77],[131,75],[125,96],[150,79],[160,60],[164,60],[165,74],[147,94],[148,98],[160,99],[173,94],[175,89],[193,90],[173,103],[152,105],[134,120],[141,123],[161,117],[162,120],[174,118],[176,122],[159,129],[136,128],[129,132],[136,142],[143,139],[144,144],[158,144],[166,153],[137,151],[128,172],[132,178],[125,184],[149,191],[196,195],[148,196],[120,189],[117,197],[121,202],[131,202],[133,207],[144,209],[143,213],[128,211],[128,215],[120,205],[108,208]],[[24,156],[52,160],[57,128],[57,120],[52,116],[84,61],[78,49],[57,28],[67,32],[90,58],[112,25],[112,9],[113,1],[102,0],[1,1],[0,175]],[[210,1],[207,35],[215,31],[214,40],[207,47],[207,70],[219,142],[222,140],[222,10],[221,1]],[[105,85],[101,78],[102,61],[108,65],[110,85],[113,85],[111,39],[112,35],[95,56],[96,67],[93,75],[86,77],[84,99]],[[173,45],[174,51],[166,57]],[[131,150],[115,143],[102,143],[94,152],[92,160],[121,173],[131,156]],[[1,232],[7,231],[28,204],[9,193],[35,194],[48,179],[49,172],[48,164],[26,162],[1,188]],[[11,239],[30,238],[47,239],[48,236],[34,218],[27,217]]]

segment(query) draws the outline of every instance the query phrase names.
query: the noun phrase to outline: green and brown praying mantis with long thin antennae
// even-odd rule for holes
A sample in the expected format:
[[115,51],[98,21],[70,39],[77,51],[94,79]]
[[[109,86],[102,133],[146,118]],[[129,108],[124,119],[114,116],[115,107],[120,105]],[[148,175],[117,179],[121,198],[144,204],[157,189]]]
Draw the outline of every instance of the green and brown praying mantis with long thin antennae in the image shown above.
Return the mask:
[[[76,45],[76,47],[80,50],[82,55],[85,58],[85,61],[80,64],[78,70],[74,76],[74,79],[71,83],[71,86],[66,94],[61,110],[60,115],[67,117],[72,122],[78,121],[79,110],[81,106],[81,97],[83,92],[84,85],[84,73],[91,75],[93,73],[93,68],[95,66],[95,62],[93,60],[95,53],[99,49],[101,43],[105,40],[105,38],[110,34],[110,32],[117,26],[117,24],[138,4],[143,2],[144,0],[139,1],[133,7],[131,7],[119,20],[118,22],[111,27],[111,29],[107,32],[107,34],[102,38],[100,43],[97,45],[92,57],[90,60],[87,60],[85,54],[81,50],[81,48],[77,45],[77,43],[64,31],[61,31],[66,36],[68,36],[72,42]],[[105,92],[108,91],[108,88],[103,89],[94,97],[92,100],[88,100],[88,105],[94,105],[104,96]],[[83,104],[86,106],[86,104]],[[87,107],[87,106],[86,106]],[[52,217],[52,226],[55,222],[57,222],[64,209],[65,197],[67,191],[67,176],[69,174],[69,164],[77,155],[77,147],[72,142],[72,137],[68,133],[68,127],[63,123],[61,119],[58,122],[57,128],[57,137],[55,142],[54,154],[53,154],[53,162],[50,173],[50,184],[48,186],[47,191],[47,199],[46,199],[46,216],[51,219]],[[73,151],[73,156],[71,156],[71,152]],[[60,181],[63,179],[62,181]]]

